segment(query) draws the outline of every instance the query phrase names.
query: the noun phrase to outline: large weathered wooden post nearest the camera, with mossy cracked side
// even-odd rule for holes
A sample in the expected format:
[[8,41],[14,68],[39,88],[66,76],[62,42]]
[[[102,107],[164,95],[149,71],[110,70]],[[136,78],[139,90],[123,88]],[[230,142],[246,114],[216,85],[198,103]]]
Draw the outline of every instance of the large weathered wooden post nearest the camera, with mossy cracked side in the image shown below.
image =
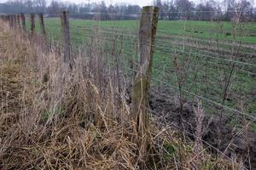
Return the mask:
[[146,161],[148,151],[150,71],[158,14],[158,7],[143,7],[139,28],[139,71],[131,89],[132,118],[136,126],[137,139],[141,146],[140,157],[143,161]]

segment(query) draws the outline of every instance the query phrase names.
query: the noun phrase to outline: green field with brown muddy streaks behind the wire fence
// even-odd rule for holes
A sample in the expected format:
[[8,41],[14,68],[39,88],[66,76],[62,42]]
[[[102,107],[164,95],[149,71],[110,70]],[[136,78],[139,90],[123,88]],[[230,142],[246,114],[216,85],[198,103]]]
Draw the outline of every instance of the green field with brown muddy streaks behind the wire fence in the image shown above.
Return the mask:
[[[118,55],[122,71],[131,78],[131,63],[137,61],[138,25],[137,20],[70,20],[73,51],[81,45],[90,46],[92,40],[99,38],[108,58]],[[46,19],[45,27],[49,41],[61,42],[60,19]],[[36,29],[40,31],[38,22]],[[255,32],[256,23],[241,23],[234,29],[230,22],[160,20],[152,86],[168,88],[178,95],[179,83],[186,99],[201,97],[207,113],[218,114],[218,103],[256,114]],[[178,67],[173,65],[175,57]],[[225,83],[233,67],[229,93],[224,99]],[[239,112],[224,111],[241,117]]]

